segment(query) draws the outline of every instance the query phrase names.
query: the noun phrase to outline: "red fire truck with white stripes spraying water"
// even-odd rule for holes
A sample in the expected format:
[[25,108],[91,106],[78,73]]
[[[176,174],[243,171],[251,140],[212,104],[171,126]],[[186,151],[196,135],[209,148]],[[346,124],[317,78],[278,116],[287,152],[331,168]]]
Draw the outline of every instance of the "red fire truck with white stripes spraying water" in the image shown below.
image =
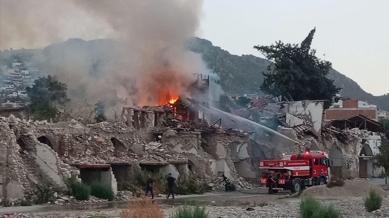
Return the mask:
[[331,161],[325,152],[306,149],[303,154],[282,154],[281,157],[280,160],[259,161],[259,169],[265,170],[261,189],[268,189],[270,173],[275,180],[274,192],[291,190],[295,193],[304,187],[327,184],[330,180]]

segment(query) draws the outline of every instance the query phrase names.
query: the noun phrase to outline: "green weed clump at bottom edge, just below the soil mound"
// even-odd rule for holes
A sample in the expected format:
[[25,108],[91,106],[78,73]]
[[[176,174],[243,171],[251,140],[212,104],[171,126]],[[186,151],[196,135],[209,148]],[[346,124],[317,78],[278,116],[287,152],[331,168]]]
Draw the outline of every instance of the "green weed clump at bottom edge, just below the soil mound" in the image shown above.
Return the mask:
[[301,218],[340,218],[340,213],[331,205],[323,205],[313,197],[306,197],[300,203]]

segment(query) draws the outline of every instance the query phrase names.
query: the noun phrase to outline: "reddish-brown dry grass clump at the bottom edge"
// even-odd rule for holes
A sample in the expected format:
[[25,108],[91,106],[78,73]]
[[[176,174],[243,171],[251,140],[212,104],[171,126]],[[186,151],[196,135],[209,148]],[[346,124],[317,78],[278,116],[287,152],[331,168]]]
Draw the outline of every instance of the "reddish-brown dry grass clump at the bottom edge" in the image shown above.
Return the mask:
[[123,209],[122,218],[164,218],[157,202],[145,197],[142,201],[130,202],[127,209]]

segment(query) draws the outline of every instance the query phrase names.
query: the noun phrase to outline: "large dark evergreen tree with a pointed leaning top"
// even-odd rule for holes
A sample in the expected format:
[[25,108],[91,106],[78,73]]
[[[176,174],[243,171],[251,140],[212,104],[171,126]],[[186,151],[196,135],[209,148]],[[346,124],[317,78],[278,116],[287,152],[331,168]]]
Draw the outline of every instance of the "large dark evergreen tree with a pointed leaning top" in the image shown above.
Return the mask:
[[254,46],[271,62],[269,72],[262,72],[264,80],[260,88],[263,92],[293,100],[328,100],[325,107],[329,107],[341,88],[326,77],[332,69],[331,62],[317,58],[316,50],[311,49],[315,31],[312,29],[300,45],[278,41],[275,45]]

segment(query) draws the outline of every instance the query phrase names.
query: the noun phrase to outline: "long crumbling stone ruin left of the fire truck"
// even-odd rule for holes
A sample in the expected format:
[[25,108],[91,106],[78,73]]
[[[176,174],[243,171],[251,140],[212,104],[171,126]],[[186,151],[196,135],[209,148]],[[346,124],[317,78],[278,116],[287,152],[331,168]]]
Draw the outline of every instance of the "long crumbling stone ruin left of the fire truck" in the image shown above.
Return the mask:
[[0,196],[23,198],[39,185],[78,180],[128,181],[141,168],[173,176],[189,171],[209,180],[237,179],[236,151],[248,153],[249,135],[174,118],[169,106],[123,108],[122,121],[82,125],[0,118]]

